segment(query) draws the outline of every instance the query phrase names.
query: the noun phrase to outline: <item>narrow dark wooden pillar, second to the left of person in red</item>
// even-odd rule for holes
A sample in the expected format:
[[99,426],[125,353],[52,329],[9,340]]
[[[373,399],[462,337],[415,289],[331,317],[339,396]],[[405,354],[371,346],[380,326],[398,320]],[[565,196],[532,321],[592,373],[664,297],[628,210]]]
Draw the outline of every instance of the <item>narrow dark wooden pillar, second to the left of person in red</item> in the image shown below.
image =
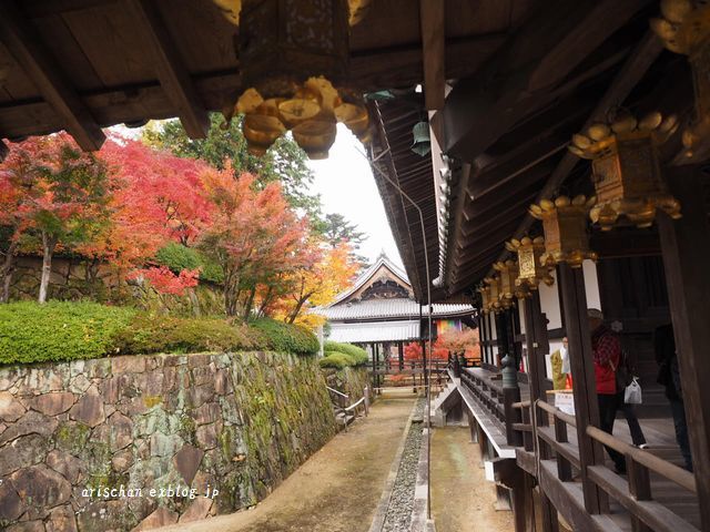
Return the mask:
[[[547,388],[547,378],[545,374],[545,355],[548,354],[550,346],[547,338],[547,317],[540,309],[540,295],[537,290],[525,299],[525,342],[528,351],[528,385],[530,387],[530,403],[541,399],[547,402],[545,390]],[[551,458],[549,449],[545,444],[540,444],[537,437],[537,427],[547,427],[548,416],[537,408],[532,409],[532,446],[537,460],[547,460]],[[557,510],[540,490],[540,507],[542,510],[541,522],[544,532],[556,532],[559,530],[559,521],[557,519]]]

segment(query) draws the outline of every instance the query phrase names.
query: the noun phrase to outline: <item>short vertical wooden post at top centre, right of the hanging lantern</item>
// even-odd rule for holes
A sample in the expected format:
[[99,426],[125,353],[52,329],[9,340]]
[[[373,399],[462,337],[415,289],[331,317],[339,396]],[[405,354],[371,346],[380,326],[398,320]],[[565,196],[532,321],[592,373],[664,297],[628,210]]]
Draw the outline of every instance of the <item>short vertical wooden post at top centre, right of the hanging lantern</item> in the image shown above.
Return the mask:
[[444,4],[442,0],[419,0],[422,54],[424,61],[424,99],[428,111],[444,106],[446,86]]

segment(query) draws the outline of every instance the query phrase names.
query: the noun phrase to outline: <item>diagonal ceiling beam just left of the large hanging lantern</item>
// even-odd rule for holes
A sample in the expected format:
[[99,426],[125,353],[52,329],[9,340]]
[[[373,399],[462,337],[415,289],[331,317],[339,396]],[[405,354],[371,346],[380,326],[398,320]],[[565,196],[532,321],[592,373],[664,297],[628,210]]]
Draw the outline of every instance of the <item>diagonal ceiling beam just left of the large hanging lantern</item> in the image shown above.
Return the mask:
[[153,0],[129,0],[126,3],[139,31],[142,31],[152,44],[152,49],[146,53],[153,54],[158,79],[175,106],[187,135],[192,139],[204,139],[210,129],[207,112],[172,42],[158,6]]

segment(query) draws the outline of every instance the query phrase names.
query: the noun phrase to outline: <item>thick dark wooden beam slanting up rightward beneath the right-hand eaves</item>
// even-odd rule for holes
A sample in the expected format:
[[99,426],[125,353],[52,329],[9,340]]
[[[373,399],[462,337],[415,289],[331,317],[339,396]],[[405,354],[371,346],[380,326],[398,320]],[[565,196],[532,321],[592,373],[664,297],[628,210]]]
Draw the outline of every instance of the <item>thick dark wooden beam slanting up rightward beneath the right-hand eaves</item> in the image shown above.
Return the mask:
[[[545,8],[500,49],[501,53],[452,90],[437,113],[442,116],[435,117],[444,122],[444,151],[465,161],[484,153],[523,116],[548,102],[550,89],[647,3],[545,2]],[[544,68],[531,66],[538,64]]]

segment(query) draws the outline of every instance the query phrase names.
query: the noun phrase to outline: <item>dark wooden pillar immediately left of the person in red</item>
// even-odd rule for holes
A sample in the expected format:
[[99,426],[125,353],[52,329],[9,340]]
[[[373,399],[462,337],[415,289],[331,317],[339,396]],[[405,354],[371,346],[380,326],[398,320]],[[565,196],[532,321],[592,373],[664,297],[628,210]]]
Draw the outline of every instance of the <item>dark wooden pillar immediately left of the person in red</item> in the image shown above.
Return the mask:
[[571,268],[568,264],[558,265],[557,274],[562,294],[565,328],[569,344],[585,508],[591,514],[606,513],[609,509],[607,495],[587,474],[589,466],[604,464],[604,450],[600,443],[587,436],[588,426],[599,427],[599,403],[597,402],[591,335],[587,318],[585,274],[581,268]]

